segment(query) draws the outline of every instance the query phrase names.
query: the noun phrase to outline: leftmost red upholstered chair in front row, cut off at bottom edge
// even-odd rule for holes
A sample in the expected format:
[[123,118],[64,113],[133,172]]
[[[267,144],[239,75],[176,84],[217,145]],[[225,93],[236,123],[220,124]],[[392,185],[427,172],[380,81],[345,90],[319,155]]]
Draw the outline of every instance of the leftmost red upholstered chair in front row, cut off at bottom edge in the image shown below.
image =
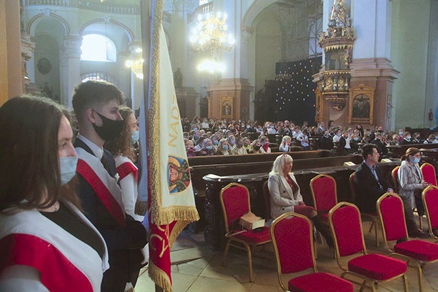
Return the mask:
[[[283,291],[353,291],[352,283],[327,273],[318,273],[312,244],[312,224],[307,217],[285,213],[271,225],[279,283]],[[294,252],[291,252],[294,251]],[[282,274],[313,268],[313,273],[283,283]]]

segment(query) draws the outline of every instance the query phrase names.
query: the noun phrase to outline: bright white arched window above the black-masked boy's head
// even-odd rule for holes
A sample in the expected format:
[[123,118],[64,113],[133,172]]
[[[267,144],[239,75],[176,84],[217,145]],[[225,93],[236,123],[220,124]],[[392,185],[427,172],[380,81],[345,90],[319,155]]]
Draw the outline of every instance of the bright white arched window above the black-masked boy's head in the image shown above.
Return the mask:
[[116,62],[117,49],[114,42],[101,34],[82,37],[81,60],[96,62]]

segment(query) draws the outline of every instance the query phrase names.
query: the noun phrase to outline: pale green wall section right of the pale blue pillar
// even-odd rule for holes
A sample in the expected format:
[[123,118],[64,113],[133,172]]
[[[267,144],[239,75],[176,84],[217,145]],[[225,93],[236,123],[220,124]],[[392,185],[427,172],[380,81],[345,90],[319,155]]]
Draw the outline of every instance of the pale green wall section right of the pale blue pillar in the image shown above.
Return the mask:
[[430,0],[395,0],[392,3],[391,61],[400,71],[393,91],[394,129],[426,127]]

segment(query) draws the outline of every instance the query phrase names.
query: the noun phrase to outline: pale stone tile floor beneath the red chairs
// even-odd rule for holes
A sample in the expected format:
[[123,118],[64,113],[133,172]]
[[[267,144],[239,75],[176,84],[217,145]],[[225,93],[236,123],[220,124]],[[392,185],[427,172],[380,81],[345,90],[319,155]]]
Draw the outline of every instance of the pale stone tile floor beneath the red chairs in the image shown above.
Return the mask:
[[[426,222],[425,222],[426,223]],[[427,226],[427,224],[424,224]],[[369,222],[363,222],[365,244],[368,252],[385,254],[383,240],[377,248],[374,232],[368,233]],[[373,230],[374,231],[374,230]],[[380,230],[379,230],[380,231]],[[378,235],[381,238],[381,234]],[[430,239],[430,241],[432,241]],[[339,276],[342,270],[333,258],[333,250],[325,244],[318,243],[318,271],[325,271]],[[246,252],[231,248],[227,262],[220,265],[222,251],[212,250],[204,241],[203,233],[194,234],[189,230],[181,233],[172,247],[172,288],[174,292],[274,292],[282,291],[279,286],[274,249],[270,245],[265,250],[256,250],[253,254],[255,281],[249,282],[248,261]],[[155,285],[147,273],[147,267],[141,271],[136,287],[137,292],[155,291]],[[438,263],[424,266],[424,292],[438,291]],[[307,274],[306,271],[303,274]],[[294,274],[299,275],[299,274]],[[283,282],[291,277],[283,276]],[[409,291],[419,291],[417,272],[413,268],[408,271]],[[355,285],[355,291],[359,286]],[[377,291],[403,291],[402,280],[379,282]]]

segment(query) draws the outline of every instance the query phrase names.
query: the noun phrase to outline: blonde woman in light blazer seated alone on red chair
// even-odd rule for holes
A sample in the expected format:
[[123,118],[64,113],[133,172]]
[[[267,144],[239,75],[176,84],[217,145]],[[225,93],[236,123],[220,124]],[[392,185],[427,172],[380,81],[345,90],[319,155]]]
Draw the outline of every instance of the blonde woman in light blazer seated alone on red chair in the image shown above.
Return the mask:
[[302,201],[300,186],[296,183],[292,165],[294,159],[290,155],[282,154],[276,157],[272,171],[269,173],[268,189],[270,193],[271,217],[275,219],[287,212],[295,212],[308,217],[315,228],[326,238],[330,248],[333,247],[333,238],[329,228],[322,224],[321,218],[315,209]]

